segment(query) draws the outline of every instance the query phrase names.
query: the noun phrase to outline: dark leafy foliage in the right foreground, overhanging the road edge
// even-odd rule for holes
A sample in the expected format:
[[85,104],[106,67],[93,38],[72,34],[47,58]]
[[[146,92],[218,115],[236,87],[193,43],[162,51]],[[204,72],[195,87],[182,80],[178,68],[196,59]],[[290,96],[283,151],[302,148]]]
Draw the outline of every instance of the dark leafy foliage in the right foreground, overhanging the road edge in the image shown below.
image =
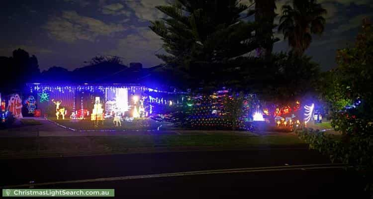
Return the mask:
[[373,194],[373,27],[367,20],[355,46],[337,52],[337,63],[320,90],[341,139],[330,139],[323,133],[303,132],[301,136],[312,148],[360,172]]

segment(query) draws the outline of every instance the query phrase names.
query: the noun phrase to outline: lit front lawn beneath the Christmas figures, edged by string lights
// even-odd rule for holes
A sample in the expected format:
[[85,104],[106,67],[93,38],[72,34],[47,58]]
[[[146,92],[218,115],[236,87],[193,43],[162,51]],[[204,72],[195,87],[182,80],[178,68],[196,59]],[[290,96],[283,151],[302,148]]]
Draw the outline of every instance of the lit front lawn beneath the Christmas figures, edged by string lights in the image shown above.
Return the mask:
[[[113,119],[105,119],[100,121],[98,126],[94,125],[94,121],[90,119],[50,119],[66,127],[70,127],[76,130],[157,130],[161,126],[161,130],[173,130],[167,122],[159,122],[153,119],[135,119],[132,122],[122,121],[121,126],[115,127]],[[102,122],[102,123],[101,123]]]

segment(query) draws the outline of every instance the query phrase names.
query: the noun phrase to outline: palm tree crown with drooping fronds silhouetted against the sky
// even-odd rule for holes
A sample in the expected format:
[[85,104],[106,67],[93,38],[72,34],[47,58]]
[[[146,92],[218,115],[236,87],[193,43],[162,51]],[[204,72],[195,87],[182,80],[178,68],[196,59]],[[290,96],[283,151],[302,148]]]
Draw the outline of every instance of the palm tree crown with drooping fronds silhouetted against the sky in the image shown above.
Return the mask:
[[302,55],[312,41],[311,34],[321,34],[324,31],[327,13],[317,0],[291,0],[291,5],[282,6],[279,32],[293,52]]

